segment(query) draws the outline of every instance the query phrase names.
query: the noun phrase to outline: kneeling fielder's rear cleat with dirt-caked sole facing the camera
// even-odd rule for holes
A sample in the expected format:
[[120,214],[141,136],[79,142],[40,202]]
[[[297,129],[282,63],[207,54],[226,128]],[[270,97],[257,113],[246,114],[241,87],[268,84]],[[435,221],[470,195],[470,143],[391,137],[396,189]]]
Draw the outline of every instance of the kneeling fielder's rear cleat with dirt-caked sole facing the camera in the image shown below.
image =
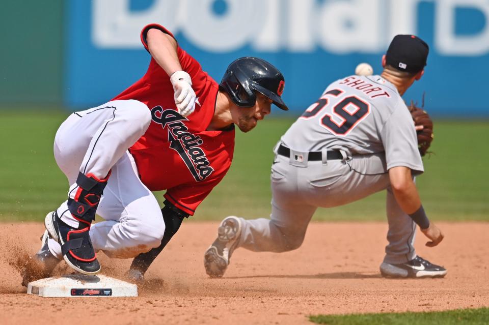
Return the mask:
[[218,238],[204,254],[205,273],[211,278],[221,278],[229,265],[229,259],[238,245],[241,235],[241,220],[227,217],[218,228]]

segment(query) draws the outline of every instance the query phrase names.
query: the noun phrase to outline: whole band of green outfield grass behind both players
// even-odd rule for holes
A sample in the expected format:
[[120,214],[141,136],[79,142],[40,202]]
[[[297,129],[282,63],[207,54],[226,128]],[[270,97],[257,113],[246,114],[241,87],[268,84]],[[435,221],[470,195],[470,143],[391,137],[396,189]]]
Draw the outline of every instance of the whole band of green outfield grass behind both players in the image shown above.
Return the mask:
[[[0,221],[39,220],[66,197],[67,182],[52,153],[52,142],[68,115],[60,111],[0,111]],[[267,217],[270,213],[271,149],[293,119],[267,118],[249,133],[236,132],[234,161],[224,180],[197,209],[194,220],[228,215]],[[489,121],[435,122],[432,151],[417,179],[434,220],[489,221],[486,141]],[[163,193],[155,193],[162,202]],[[385,193],[333,209],[316,220],[385,220]]]

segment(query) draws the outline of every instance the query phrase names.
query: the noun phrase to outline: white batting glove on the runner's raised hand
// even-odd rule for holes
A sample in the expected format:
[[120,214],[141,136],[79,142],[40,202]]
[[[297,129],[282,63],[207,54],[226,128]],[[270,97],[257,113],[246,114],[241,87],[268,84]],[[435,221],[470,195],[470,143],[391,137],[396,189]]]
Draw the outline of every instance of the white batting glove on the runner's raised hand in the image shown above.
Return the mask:
[[195,110],[196,95],[192,89],[192,79],[185,71],[176,71],[170,76],[175,91],[175,104],[178,113],[187,116]]

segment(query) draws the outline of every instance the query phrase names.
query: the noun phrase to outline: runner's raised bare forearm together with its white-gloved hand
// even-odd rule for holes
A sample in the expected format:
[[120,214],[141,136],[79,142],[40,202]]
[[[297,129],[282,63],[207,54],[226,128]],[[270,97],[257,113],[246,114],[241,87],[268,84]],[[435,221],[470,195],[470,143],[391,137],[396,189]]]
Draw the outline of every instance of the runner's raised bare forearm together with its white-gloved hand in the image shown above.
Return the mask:
[[151,28],[146,35],[148,50],[156,63],[170,76],[175,91],[178,112],[187,116],[195,109],[196,95],[192,89],[192,79],[183,71],[177,54],[177,42],[173,37]]

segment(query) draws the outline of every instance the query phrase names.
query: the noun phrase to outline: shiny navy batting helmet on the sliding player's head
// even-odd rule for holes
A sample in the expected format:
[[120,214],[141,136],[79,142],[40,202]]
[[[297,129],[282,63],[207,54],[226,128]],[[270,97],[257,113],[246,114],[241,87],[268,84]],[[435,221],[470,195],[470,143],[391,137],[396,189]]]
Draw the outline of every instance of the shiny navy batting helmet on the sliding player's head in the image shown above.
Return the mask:
[[288,110],[280,97],[285,86],[284,76],[277,68],[261,58],[240,57],[233,61],[226,69],[219,86],[228,93],[237,106],[255,105],[255,91],[257,91],[271,99],[281,109]]

